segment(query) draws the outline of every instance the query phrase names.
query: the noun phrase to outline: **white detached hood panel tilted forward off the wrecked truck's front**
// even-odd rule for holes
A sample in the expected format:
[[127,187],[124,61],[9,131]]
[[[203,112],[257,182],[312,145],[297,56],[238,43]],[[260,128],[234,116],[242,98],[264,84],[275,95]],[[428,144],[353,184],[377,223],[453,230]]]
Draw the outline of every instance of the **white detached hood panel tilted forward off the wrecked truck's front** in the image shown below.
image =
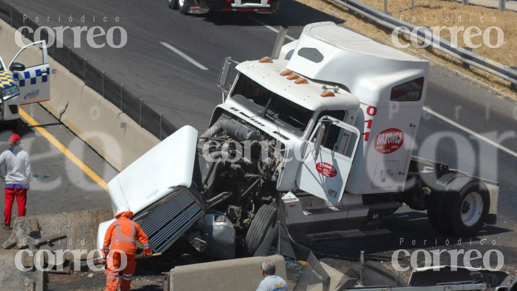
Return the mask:
[[197,130],[181,127],[117,174],[108,183],[113,212],[126,206],[137,214],[174,188],[190,187],[196,143]]

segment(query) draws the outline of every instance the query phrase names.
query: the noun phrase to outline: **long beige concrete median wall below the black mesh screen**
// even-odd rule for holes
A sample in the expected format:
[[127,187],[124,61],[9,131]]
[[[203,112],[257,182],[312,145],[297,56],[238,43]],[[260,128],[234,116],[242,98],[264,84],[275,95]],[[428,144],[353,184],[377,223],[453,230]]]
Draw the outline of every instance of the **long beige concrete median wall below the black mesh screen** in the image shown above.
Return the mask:
[[[0,20],[0,53],[8,62],[20,49],[14,28]],[[31,41],[22,37],[25,43]],[[41,57],[37,48],[19,61],[34,63]],[[85,85],[49,55],[51,99],[41,103],[52,115],[97,151],[117,170],[123,170],[154,147],[159,139],[139,126],[119,108]]]

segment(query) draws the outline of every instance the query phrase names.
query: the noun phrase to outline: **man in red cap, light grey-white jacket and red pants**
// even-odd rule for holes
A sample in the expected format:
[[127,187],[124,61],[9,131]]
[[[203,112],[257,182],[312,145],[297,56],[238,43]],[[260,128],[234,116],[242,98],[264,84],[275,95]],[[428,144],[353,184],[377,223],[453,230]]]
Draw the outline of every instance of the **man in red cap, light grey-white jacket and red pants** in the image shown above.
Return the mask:
[[9,138],[10,148],[0,154],[0,169],[5,171],[4,229],[11,228],[11,211],[14,198],[18,205],[18,216],[25,216],[27,190],[31,179],[29,155],[20,147],[21,138],[17,134]]

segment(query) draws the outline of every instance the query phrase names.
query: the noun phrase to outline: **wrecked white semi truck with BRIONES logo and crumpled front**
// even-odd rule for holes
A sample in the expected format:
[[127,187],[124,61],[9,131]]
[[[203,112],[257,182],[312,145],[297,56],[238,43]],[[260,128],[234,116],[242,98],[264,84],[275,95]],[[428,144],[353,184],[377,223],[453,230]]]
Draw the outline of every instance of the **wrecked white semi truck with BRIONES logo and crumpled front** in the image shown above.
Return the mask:
[[303,242],[378,235],[402,203],[446,234],[495,223],[497,183],[412,156],[427,61],[323,22],[226,86],[233,63],[205,133],[180,128],[108,184],[155,252],[184,236],[215,257],[239,242],[253,255],[277,220]]

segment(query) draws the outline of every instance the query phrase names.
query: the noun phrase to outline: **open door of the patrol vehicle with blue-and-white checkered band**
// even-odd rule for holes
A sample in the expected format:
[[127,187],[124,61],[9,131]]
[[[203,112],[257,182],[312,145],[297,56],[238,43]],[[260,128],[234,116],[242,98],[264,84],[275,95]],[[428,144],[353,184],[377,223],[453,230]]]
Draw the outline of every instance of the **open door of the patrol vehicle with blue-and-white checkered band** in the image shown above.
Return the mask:
[[14,55],[8,68],[20,88],[20,105],[50,99],[50,66],[44,40],[24,46]]

